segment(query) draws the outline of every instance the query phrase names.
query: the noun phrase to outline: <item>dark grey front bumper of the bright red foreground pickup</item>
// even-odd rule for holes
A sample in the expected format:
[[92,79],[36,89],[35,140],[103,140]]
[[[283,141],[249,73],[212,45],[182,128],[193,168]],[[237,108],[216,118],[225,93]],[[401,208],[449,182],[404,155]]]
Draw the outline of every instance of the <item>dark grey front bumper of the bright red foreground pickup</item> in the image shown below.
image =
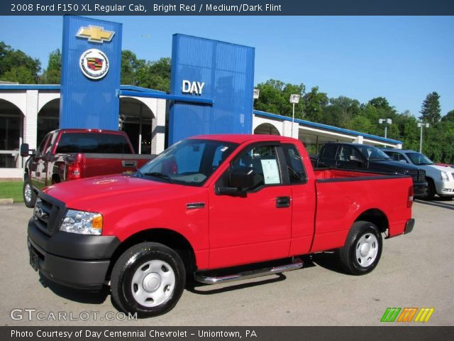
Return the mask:
[[50,281],[72,288],[102,288],[120,241],[113,236],[55,232],[52,236],[28,222],[30,264]]

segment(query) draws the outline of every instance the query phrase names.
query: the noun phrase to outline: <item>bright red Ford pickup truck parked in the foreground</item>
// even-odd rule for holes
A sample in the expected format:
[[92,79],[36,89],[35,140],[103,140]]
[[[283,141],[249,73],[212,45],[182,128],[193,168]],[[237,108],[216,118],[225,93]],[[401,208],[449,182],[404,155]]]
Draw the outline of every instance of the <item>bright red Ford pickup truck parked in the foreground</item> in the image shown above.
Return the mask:
[[187,275],[221,283],[279,274],[301,268],[301,254],[333,249],[346,272],[367,274],[382,234],[413,229],[412,203],[409,176],[314,171],[295,139],[196,136],[133,175],[45,188],[28,249],[51,281],[110,285],[121,310],[148,317],[176,305]]

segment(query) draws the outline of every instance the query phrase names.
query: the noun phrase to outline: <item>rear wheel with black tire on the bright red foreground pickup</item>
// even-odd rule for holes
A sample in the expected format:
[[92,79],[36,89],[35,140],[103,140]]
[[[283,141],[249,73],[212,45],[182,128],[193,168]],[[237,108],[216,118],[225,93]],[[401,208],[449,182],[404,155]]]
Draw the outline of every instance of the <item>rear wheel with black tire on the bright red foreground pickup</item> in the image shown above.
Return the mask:
[[352,275],[370,273],[380,261],[382,247],[382,234],[375,224],[355,222],[348,232],[344,247],[339,250],[343,269]]

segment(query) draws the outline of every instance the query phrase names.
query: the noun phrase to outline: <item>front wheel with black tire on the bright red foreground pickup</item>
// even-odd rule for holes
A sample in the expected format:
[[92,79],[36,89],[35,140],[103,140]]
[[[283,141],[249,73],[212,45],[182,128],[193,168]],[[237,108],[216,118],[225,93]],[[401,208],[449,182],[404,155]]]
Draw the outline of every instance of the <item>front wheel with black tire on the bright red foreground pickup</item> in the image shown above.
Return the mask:
[[111,294],[123,312],[150,318],[172,310],[185,283],[186,270],[177,252],[162,244],[144,242],[127,249],[116,261]]

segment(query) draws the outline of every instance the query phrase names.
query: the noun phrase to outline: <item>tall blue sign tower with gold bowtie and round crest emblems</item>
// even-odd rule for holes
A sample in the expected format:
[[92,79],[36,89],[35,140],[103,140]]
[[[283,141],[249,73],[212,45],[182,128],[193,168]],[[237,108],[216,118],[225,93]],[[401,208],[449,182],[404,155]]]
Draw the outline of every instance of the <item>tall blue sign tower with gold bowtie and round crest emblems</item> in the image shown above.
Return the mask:
[[[99,43],[76,36],[80,28],[89,25],[113,31],[114,36]],[[121,28],[121,23],[80,16],[63,18],[60,128],[118,130]],[[109,71],[98,80],[85,76],[79,65],[82,53],[91,48],[101,50],[109,60]]]

